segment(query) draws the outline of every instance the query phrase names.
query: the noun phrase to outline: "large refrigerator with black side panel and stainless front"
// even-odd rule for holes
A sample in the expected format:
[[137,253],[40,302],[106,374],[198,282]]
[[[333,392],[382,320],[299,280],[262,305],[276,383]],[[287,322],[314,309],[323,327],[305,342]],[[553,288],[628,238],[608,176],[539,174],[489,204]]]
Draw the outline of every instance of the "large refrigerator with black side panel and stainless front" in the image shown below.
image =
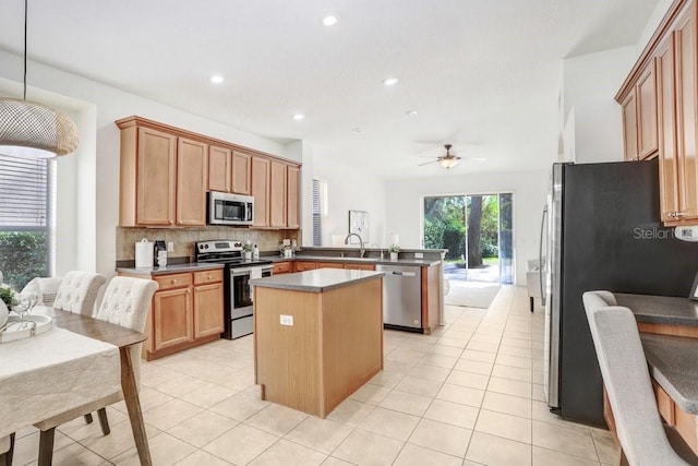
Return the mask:
[[698,243],[675,239],[660,222],[657,159],[555,164],[546,211],[549,406],[564,418],[605,426],[581,295],[607,289],[687,297]]

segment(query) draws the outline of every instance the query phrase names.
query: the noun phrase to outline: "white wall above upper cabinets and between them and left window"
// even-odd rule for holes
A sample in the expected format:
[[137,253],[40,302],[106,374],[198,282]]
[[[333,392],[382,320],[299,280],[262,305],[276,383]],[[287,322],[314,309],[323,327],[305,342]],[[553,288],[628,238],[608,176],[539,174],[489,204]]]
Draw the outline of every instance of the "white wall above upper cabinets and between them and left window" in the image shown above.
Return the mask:
[[[22,69],[20,57],[0,50],[0,93],[21,96],[17,83],[22,81]],[[27,97],[75,116],[81,133],[75,159],[70,160],[68,157],[73,157],[70,155],[57,163],[60,182],[71,178],[70,171],[76,180],[74,198],[69,199],[71,191],[65,189],[59,191],[62,198],[57,200],[59,227],[56,241],[58,248],[64,249],[57,256],[57,273],[71,268],[94,270],[107,276],[115,273],[119,222],[119,129],[116,120],[139,115],[286,157],[285,146],[273,140],[40,63],[29,62],[29,70],[32,87]]]

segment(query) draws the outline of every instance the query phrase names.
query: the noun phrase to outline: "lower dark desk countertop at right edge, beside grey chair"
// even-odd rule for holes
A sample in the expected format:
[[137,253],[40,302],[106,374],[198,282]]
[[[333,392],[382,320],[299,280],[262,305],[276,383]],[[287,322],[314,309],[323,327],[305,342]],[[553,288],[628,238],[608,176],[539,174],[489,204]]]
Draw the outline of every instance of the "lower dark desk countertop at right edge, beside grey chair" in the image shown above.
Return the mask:
[[650,373],[681,408],[698,415],[698,339],[641,334]]

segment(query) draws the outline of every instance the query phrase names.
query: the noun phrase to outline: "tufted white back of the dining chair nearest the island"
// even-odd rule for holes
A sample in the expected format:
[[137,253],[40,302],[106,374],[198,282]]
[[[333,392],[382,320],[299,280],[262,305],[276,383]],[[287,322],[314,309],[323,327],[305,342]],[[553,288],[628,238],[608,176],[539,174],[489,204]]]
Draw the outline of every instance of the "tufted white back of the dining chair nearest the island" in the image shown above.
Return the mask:
[[[116,276],[107,285],[101,304],[94,316],[100,321],[143,332],[151,300],[157,288],[157,282],[152,279]],[[130,348],[136,382],[140,381],[142,346],[143,344],[139,344]]]

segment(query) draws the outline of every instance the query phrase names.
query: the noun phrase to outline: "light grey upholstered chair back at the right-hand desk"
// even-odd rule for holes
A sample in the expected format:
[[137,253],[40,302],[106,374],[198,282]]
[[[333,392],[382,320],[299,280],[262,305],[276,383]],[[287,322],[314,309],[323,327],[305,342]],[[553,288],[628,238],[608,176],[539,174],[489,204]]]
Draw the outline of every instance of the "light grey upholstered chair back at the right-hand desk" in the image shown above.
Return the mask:
[[666,439],[633,311],[615,306],[615,297],[609,291],[587,291],[582,299],[628,463],[686,465]]

